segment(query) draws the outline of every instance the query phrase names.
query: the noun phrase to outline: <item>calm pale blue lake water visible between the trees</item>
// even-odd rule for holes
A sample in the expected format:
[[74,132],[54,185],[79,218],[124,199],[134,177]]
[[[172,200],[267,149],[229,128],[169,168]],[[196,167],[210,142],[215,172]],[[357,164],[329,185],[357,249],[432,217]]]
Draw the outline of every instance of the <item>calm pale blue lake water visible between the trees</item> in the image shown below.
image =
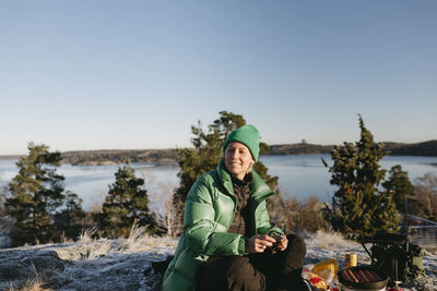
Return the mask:
[[[262,156],[261,160],[269,168],[270,174],[280,178],[279,186],[285,197],[295,196],[305,202],[309,195],[315,195],[329,202],[334,187],[329,184],[330,173],[321,162],[322,157],[329,163],[329,155]],[[7,184],[16,174],[15,161],[0,160],[0,184]],[[413,184],[416,178],[425,173],[437,174],[437,157],[388,156],[380,162],[387,170],[398,163],[409,172]],[[78,193],[83,199],[83,206],[88,208],[103,203],[108,185],[114,183],[114,173],[118,167],[62,165],[58,172],[66,178],[66,190]],[[178,185],[179,167],[176,163],[133,163],[132,167],[137,175],[145,180],[151,208],[162,213],[166,197]]]

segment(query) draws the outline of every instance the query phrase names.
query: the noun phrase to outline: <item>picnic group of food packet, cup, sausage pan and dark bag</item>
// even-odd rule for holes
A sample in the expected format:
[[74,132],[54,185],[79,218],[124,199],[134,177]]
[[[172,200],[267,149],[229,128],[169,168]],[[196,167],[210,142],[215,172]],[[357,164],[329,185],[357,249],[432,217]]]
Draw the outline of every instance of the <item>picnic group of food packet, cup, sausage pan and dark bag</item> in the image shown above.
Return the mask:
[[[370,250],[366,243],[371,243]],[[356,254],[347,253],[342,269],[339,270],[336,260],[330,258],[305,265],[303,278],[317,291],[339,290],[336,287],[342,291],[403,291],[405,289],[398,284],[416,278],[424,270],[424,251],[410,243],[405,235],[377,233],[364,238],[362,245],[371,259],[369,265],[358,265]]]

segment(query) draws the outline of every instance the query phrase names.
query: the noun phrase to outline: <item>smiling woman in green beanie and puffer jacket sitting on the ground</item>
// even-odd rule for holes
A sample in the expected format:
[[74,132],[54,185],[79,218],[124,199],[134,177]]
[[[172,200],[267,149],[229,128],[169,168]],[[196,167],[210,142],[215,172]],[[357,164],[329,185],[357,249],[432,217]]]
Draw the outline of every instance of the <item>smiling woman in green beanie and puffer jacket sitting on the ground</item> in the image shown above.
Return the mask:
[[269,222],[265,199],[274,192],[252,170],[259,140],[253,125],[233,131],[217,168],[192,185],[164,291],[308,290],[304,241]]

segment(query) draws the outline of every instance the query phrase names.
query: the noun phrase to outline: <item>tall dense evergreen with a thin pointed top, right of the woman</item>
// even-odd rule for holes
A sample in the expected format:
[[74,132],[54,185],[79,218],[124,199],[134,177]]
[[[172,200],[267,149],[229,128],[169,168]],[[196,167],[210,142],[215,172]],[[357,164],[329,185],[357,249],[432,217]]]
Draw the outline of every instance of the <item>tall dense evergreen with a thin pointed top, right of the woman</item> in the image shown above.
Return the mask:
[[392,194],[379,190],[386,174],[386,170],[379,166],[379,160],[387,154],[383,144],[374,142],[361,116],[359,128],[359,142],[355,145],[344,143],[331,153],[333,166],[329,168],[332,173],[330,182],[338,186],[334,199],[339,209],[332,213],[326,208],[323,211],[335,231],[352,239],[399,229]]

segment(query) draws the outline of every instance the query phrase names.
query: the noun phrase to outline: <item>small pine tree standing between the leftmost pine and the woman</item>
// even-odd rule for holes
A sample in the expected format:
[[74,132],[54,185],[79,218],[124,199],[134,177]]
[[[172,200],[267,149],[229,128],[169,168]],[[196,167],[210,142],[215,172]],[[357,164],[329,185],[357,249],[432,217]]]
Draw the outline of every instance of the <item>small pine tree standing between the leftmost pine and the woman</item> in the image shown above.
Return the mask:
[[109,185],[108,194],[97,215],[101,230],[114,238],[127,237],[133,222],[155,231],[156,221],[149,210],[147,192],[143,189],[144,180],[137,178],[129,160],[115,173],[116,181]]

